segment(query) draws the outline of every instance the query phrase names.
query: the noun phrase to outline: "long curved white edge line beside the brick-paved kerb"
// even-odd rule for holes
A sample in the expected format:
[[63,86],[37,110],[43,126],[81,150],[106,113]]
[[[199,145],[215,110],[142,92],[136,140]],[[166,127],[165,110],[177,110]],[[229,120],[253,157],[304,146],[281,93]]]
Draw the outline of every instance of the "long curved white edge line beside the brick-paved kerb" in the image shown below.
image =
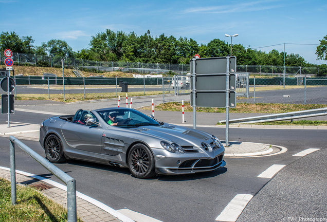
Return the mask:
[[[10,168],[0,167],[0,169],[10,171]],[[26,173],[24,171],[16,170],[16,173],[22,174],[22,175],[27,176],[27,177],[33,177],[33,178],[36,178],[38,180],[42,180],[42,181],[52,185],[53,187],[57,187],[57,188],[59,188],[61,190],[67,191],[67,187],[65,185],[60,184],[60,183],[58,183],[56,181],[53,181],[53,180],[50,180],[50,179],[47,179],[47,178],[44,178],[44,177],[41,177],[41,176],[38,176],[38,175]],[[123,215],[122,213],[114,210],[113,208],[103,204],[102,202],[100,202],[100,201],[98,201],[98,200],[96,200],[96,199],[94,199],[92,197],[89,197],[89,196],[87,196],[85,194],[82,194],[82,193],[80,193],[78,191],[76,191],[76,196],[86,200],[87,202],[90,202],[91,204],[97,206],[98,208],[101,208],[102,210],[110,213],[111,215],[117,217],[118,219],[120,219],[123,222],[134,222],[134,220],[132,220],[128,216]]]

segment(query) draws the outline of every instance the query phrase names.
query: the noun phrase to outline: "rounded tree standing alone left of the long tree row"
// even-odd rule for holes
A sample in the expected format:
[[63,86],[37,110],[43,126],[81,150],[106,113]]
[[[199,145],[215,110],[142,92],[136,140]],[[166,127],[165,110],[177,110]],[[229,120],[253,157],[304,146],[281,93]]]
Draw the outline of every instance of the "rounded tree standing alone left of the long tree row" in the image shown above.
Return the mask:
[[[41,44],[42,49],[47,52],[51,57],[75,57],[75,52],[63,40],[50,40],[47,43]],[[41,49],[39,49],[41,50]]]

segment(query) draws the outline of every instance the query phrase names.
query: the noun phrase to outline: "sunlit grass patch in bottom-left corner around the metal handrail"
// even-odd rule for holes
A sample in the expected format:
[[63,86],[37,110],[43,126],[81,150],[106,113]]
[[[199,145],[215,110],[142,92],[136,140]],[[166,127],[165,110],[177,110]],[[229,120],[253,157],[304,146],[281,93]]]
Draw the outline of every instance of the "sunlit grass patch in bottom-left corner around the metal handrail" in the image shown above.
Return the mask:
[[12,206],[10,182],[0,178],[0,221],[67,221],[67,211],[37,190],[16,186],[16,194],[17,204]]

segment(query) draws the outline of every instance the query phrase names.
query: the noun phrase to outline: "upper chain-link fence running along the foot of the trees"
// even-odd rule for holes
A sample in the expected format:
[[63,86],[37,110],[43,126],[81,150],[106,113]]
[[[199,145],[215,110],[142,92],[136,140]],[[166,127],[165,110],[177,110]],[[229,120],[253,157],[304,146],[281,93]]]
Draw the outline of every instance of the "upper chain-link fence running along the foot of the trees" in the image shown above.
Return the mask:
[[[39,54],[13,53],[14,64],[19,66],[43,66],[43,67],[62,67],[61,57],[50,57]],[[64,67],[79,67],[82,70],[94,71],[97,73],[107,71],[123,71],[134,73],[156,73],[162,74],[174,72],[185,74],[190,71],[189,64],[162,64],[162,63],[142,63],[142,62],[114,62],[114,61],[89,61],[76,58],[64,58]],[[0,55],[0,65],[5,61],[4,55]],[[249,72],[250,75],[259,76],[323,76],[327,75],[327,68],[301,67],[301,66],[267,66],[267,65],[237,65],[237,72]]]

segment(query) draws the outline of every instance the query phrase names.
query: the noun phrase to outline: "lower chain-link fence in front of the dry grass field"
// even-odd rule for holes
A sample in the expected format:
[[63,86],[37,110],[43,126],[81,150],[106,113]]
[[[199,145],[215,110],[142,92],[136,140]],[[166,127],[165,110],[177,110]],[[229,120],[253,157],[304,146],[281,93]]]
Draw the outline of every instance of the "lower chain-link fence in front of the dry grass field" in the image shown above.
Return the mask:
[[[237,73],[237,102],[327,104],[327,78],[297,76],[294,78],[248,78]],[[190,76],[168,78],[71,78],[56,76],[12,77],[15,96],[54,98],[69,96],[79,99],[103,99],[125,93],[162,95],[162,102],[175,98],[190,99]],[[64,81],[63,81],[64,80]],[[56,95],[56,96],[55,96]]]

